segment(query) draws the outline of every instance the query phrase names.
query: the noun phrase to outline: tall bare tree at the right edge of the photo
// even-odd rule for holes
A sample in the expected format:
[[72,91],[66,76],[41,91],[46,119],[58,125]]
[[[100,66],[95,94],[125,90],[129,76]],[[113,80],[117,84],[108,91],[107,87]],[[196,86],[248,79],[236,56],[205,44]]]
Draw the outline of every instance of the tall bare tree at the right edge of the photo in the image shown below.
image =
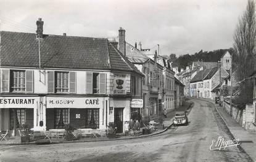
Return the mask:
[[[256,15],[255,1],[248,0],[246,11],[239,18],[236,31],[234,32],[234,50],[237,57],[236,80],[240,81],[241,94],[236,102],[244,104],[252,102],[253,84],[247,80],[256,67]],[[241,106],[244,107],[244,104]],[[241,108],[242,108],[241,107]]]

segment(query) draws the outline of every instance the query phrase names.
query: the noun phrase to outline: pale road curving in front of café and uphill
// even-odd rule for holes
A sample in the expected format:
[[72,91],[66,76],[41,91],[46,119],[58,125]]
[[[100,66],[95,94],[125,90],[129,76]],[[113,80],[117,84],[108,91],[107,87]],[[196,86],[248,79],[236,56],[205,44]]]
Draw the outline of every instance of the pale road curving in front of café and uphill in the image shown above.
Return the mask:
[[212,104],[192,99],[189,125],[126,141],[2,146],[1,161],[250,161],[239,147],[210,150],[218,137],[232,139]]

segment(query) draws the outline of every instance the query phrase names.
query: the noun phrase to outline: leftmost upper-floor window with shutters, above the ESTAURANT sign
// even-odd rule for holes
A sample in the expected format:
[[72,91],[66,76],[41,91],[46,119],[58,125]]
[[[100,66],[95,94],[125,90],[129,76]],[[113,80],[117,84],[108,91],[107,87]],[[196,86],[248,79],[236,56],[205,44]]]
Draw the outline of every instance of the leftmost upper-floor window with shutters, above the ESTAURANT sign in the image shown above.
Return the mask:
[[33,93],[33,71],[2,69],[0,72],[1,92]]

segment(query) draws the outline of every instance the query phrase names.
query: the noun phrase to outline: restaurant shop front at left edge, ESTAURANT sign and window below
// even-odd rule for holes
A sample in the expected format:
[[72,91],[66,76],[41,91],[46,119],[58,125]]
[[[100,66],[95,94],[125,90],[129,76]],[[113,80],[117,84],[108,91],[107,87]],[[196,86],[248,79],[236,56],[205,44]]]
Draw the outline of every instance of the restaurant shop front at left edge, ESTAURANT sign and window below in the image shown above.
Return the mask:
[[19,135],[17,129],[23,124],[29,124],[32,128],[36,123],[39,106],[39,97],[0,97],[0,128],[1,131],[9,129],[10,136]]

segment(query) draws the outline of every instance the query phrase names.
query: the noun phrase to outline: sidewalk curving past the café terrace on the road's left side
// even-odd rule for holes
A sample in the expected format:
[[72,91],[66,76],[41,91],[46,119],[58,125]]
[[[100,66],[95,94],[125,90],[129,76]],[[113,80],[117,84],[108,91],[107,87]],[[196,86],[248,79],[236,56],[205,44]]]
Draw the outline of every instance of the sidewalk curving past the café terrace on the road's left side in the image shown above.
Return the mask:
[[[108,139],[107,137],[94,137],[94,138],[82,138],[77,141],[65,141],[65,140],[52,140],[52,144],[57,144],[57,143],[70,143],[70,142],[95,142],[95,141],[114,141],[114,140],[125,140],[125,139],[137,139],[140,137],[148,137],[148,136],[154,136],[156,134],[163,133],[167,131],[167,129],[172,125],[173,123],[173,118],[175,117],[175,112],[177,110],[187,110],[191,107],[192,102],[190,101],[185,101],[183,106],[178,107],[178,109],[172,109],[170,112],[167,113],[167,118],[164,118],[163,125],[164,129],[156,129],[155,131],[151,132],[151,134],[142,134],[142,127],[139,131],[139,136],[125,136],[124,133],[117,133],[117,138],[116,139]],[[163,114],[160,114],[159,117],[163,117]],[[159,122],[159,117],[152,118],[155,122]],[[36,144],[35,141],[33,142],[26,142],[26,143],[21,143],[20,142],[20,137],[9,137],[7,138],[7,141],[0,141],[0,145],[23,145],[23,144]]]

